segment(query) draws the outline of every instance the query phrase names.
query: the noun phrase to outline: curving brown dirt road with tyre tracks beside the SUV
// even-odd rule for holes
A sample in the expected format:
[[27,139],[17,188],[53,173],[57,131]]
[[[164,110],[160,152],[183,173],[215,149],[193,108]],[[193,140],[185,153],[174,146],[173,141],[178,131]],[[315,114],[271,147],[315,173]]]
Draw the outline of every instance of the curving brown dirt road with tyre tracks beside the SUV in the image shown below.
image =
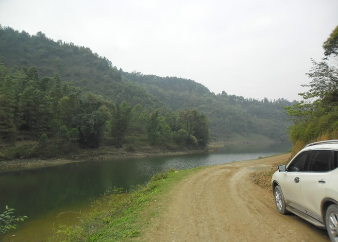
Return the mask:
[[143,241],[330,241],[326,231],[277,212],[272,192],[250,173],[286,163],[289,154],[213,166],[193,174],[171,193],[166,209],[143,231]]

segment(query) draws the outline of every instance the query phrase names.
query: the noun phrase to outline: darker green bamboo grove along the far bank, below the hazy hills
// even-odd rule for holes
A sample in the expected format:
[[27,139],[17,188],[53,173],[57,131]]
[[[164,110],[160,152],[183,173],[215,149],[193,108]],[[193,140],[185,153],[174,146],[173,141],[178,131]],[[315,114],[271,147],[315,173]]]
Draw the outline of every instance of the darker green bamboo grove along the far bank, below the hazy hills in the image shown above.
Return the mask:
[[165,112],[125,101],[113,103],[63,82],[57,73],[40,78],[36,67],[7,68],[1,63],[0,138],[16,147],[20,141],[35,141],[29,151],[16,153],[29,157],[55,156],[74,146],[98,148],[102,141],[118,148],[126,142],[129,147],[145,142],[203,148],[209,132],[207,117],[196,109]]

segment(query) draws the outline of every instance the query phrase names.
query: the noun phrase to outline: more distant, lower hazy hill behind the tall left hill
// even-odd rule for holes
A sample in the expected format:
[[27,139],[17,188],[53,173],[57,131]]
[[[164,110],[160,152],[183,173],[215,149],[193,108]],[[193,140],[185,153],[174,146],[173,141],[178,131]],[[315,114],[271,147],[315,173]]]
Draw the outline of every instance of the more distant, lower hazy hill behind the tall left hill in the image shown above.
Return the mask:
[[[205,86],[177,77],[121,72],[128,80],[142,86],[148,93],[173,110],[198,108],[209,117],[214,140],[274,139],[288,140],[290,125],[285,108],[294,104],[285,99],[269,101],[228,95],[225,91],[211,93]],[[261,137],[259,137],[261,136]]]

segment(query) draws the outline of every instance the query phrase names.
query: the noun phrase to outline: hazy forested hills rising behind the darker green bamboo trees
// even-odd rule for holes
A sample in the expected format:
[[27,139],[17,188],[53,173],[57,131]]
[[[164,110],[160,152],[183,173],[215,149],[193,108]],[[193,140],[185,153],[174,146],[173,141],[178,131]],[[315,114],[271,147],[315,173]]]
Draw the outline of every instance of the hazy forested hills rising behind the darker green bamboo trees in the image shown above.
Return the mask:
[[[109,102],[126,101],[148,110],[197,109],[209,119],[211,140],[286,140],[290,125],[285,100],[255,100],[209,91],[193,80],[159,77],[117,69],[87,47],[54,41],[41,32],[29,35],[0,28],[0,60],[8,67],[37,67],[39,77],[58,73],[61,80]],[[206,70],[207,71],[207,70]]]

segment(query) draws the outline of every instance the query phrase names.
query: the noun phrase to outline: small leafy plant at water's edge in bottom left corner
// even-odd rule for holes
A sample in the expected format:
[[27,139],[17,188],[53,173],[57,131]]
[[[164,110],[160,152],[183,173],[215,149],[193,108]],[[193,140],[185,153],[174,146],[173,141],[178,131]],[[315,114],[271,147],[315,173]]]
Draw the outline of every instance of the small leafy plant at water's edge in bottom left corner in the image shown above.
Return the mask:
[[2,237],[11,229],[17,228],[17,222],[23,222],[27,216],[14,216],[14,208],[6,206],[5,211],[0,213],[0,241]]

